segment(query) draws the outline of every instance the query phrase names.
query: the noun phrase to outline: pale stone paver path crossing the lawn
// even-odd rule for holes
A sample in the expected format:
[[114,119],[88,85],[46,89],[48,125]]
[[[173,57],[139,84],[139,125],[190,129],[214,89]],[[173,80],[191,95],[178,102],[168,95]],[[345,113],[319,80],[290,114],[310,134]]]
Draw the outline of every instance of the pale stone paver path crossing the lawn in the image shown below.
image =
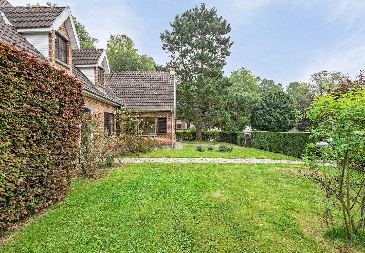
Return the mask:
[[185,158],[185,157],[141,157],[115,158],[114,163],[288,163],[303,164],[304,161],[274,160],[264,158]]

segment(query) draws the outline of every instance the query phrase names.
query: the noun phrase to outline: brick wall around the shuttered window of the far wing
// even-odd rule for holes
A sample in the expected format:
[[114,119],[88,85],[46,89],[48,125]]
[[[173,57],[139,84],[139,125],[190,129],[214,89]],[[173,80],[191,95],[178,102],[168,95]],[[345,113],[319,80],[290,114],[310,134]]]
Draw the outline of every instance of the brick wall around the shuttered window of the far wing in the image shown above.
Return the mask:
[[[154,137],[155,143],[160,143],[161,145],[166,145],[167,147],[171,147],[171,112],[138,112],[138,117],[167,117],[167,135],[157,135]],[[173,124],[173,135],[174,135],[174,146],[176,142],[176,134],[175,134],[175,113],[172,118]]]

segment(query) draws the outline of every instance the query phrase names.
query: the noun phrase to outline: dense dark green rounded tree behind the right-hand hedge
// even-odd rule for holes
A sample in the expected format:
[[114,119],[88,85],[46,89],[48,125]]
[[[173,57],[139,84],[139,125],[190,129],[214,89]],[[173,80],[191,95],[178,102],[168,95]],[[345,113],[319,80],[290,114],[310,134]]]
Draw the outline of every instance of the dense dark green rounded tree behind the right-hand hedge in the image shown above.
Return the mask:
[[251,126],[260,131],[287,132],[297,126],[297,109],[291,96],[283,91],[269,92],[251,115]]

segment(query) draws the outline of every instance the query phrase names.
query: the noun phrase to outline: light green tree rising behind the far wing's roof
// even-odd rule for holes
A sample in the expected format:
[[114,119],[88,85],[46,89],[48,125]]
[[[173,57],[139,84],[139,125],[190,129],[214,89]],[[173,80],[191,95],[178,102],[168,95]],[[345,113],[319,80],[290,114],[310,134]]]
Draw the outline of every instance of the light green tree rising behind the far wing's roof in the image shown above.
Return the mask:
[[145,54],[138,55],[133,40],[126,34],[110,34],[106,51],[111,71],[155,70],[155,61]]

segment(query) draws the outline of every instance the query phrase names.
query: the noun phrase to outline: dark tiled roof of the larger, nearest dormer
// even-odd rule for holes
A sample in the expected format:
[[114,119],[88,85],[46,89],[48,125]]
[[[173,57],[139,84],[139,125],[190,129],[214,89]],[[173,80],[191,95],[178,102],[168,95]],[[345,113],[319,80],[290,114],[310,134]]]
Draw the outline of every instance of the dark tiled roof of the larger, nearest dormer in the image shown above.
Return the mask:
[[47,27],[67,7],[0,7],[16,28]]

